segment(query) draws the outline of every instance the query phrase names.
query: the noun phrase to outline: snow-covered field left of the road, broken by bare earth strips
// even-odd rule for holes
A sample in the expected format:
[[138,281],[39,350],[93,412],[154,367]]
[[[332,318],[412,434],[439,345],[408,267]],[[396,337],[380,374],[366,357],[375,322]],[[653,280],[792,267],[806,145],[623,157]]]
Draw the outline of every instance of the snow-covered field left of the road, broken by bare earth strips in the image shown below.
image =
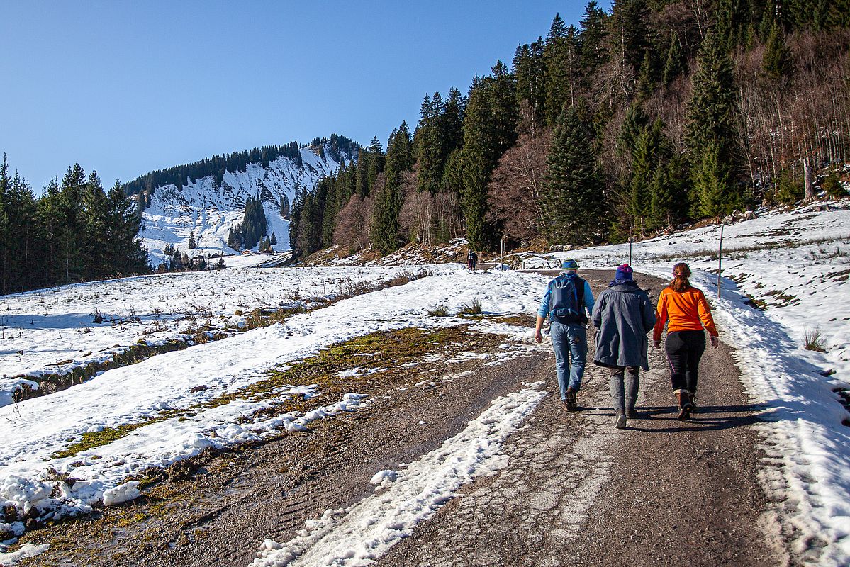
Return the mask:
[[[200,305],[204,309],[214,309],[217,314],[229,312],[232,317],[232,309],[235,308],[248,309],[257,304],[274,306],[278,302],[291,301],[293,292],[301,296],[332,295],[337,286],[347,285],[349,279],[378,281],[392,278],[401,270],[418,269],[415,266],[226,269],[68,286],[48,293],[61,298],[51,299],[56,302],[51,303],[55,313],[77,313],[72,321],[86,319],[91,306],[97,304],[101,312],[135,309],[150,324],[153,317],[150,313],[156,305],[161,305],[162,313],[168,314]],[[9,423],[0,446],[0,502],[5,501],[7,506],[16,507],[21,513],[35,508],[42,518],[86,513],[93,505],[111,505],[138,496],[137,486],[133,482],[125,482],[125,479],[145,468],[165,467],[207,447],[223,447],[269,434],[297,431],[313,419],[332,417],[339,411],[354,411],[369,403],[356,392],[346,394],[342,400],[327,400],[319,411],[305,415],[292,413],[241,423],[241,417],[274,405],[292,394],[322,395],[318,389],[293,391],[292,388],[281,388],[271,398],[235,400],[193,412],[194,415],[189,418],[175,413],[258,382],[269,369],[302,360],[332,343],[408,326],[468,322],[429,316],[428,310],[437,303],[450,311],[457,311],[471,298],[479,298],[484,309],[490,312],[529,313],[536,308],[540,288],[545,282],[544,278],[533,274],[467,275],[466,270],[457,265],[428,266],[427,269],[433,275],[404,286],[344,299],[311,313],[293,315],[284,324],[237,333],[179,352],[160,354],[133,366],[105,371],[86,383],[55,394],[7,405],[0,410],[0,416]],[[97,298],[92,297],[95,294]],[[35,314],[41,311],[42,303],[38,297],[37,292],[3,299],[9,312],[14,311],[19,317],[26,318],[27,309]],[[94,303],[90,303],[93,299]],[[111,303],[105,303],[107,300]],[[46,324],[45,321],[42,323]],[[34,328],[26,333],[21,330],[20,337],[15,336],[13,340],[23,341],[28,337],[26,345],[15,343],[15,348],[26,346],[24,354],[4,348],[3,364],[19,370],[41,368],[46,355],[42,350],[51,349],[65,349],[61,355],[71,359],[84,358],[81,350],[101,343],[118,339],[132,342],[144,331],[144,325],[142,323],[124,331],[105,326],[105,337],[101,338],[90,338],[95,335],[94,330],[91,333],[80,332],[79,340],[89,341],[82,349],[80,345],[72,349],[63,347],[59,332],[54,328]],[[483,325],[482,330],[526,335],[524,329],[504,324]],[[45,345],[46,349],[38,348],[39,344]],[[532,348],[539,347],[520,347],[521,350]],[[515,355],[518,355],[515,349],[512,352],[506,348],[495,361],[499,356]],[[52,360],[55,354],[48,356]],[[87,432],[142,422],[148,424],[108,445],[73,456],[56,455],[57,451],[82,439]],[[72,485],[62,480],[69,474],[78,479]],[[24,525],[20,521],[0,524],[0,530],[20,535]],[[8,558],[4,560],[8,561]]]

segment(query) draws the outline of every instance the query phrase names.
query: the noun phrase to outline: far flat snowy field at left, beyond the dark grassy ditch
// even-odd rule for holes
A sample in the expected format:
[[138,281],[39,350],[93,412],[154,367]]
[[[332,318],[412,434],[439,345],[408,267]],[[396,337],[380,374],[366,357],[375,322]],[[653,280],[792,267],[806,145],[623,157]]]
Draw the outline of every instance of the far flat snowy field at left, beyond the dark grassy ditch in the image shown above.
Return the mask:
[[[144,341],[161,344],[193,329],[238,326],[252,309],[333,298],[359,284],[422,268],[247,269],[265,256],[227,258],[228,268],[145,275],[0,296],[0,407],[22,382],[110,359]],[[96,314],[102,316],[94,323]]]

